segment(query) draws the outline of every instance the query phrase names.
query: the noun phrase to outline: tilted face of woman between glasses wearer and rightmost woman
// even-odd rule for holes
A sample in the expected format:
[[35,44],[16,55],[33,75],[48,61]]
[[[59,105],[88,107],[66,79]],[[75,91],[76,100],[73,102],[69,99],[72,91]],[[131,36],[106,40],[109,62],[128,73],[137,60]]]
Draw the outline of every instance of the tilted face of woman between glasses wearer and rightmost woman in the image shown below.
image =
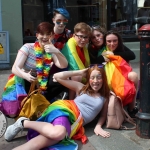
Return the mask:
[[91,42],[93,43],[94,46],[97,48],[101,47],[103,45],[103,34],[97,30],[93,30],[92,35],[91,35]]

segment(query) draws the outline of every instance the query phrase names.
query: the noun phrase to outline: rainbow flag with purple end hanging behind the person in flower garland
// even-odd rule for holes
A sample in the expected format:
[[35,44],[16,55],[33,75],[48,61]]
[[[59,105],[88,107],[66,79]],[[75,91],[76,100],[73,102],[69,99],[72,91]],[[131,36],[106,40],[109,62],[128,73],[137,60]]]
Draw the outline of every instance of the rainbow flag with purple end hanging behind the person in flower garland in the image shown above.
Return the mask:
[[19,114],[21,101],[27,96],[24,89],[24,79],[11,74],[2,93],[0,110],[5,115]]

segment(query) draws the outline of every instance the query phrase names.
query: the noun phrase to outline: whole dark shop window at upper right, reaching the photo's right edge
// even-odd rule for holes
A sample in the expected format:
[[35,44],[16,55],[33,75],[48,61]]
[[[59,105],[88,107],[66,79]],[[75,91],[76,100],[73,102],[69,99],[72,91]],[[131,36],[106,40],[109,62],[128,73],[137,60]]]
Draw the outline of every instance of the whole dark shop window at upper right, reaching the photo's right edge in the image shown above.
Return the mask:
[[109,28],[117,30],[124,38],[138,40],[138,29],[150,23],[149,0],[111,0],[110,8]]

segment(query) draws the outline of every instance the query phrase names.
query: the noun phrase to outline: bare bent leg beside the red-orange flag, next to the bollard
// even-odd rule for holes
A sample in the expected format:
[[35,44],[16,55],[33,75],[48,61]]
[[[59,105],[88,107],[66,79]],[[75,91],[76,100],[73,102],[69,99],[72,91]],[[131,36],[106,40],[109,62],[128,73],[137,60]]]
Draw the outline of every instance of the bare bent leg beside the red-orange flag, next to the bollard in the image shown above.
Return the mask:
[[135,102],[136,102],[136,96],[138,92],[138,75],[136,72],[130,72],[128,74],[128,79],[134,83],[135,89],[136,89],[136,94],[135,97],[132,101],[132,103],[129,104],[129,110],[132,111],[135,107]]

